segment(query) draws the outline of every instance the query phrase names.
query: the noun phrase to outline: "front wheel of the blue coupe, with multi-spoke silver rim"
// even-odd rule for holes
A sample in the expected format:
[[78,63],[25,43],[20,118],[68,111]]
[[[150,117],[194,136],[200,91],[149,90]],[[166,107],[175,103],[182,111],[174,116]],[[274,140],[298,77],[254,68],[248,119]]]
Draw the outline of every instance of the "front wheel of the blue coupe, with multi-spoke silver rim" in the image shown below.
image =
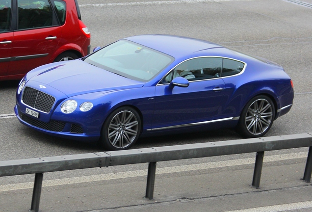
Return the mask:
[[141,132],[141,118],[139,113],[129,107],[123,106],[114,110],[106,118],[100,145],[105,150],[129,149],[138,139]]

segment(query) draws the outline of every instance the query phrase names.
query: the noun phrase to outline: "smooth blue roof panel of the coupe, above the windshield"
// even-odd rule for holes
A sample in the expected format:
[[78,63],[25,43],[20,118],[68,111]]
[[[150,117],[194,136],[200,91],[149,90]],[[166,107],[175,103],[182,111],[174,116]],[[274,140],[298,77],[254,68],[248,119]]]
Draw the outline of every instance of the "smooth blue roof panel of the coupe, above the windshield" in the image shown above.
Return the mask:
[[[192,55],[204,50],[225,48],[209,41],[175,35],[137,35],[125,39],[155,49],[159,52],[169,54],[175,58]],[[207,51],[205,52],[207,54]]]

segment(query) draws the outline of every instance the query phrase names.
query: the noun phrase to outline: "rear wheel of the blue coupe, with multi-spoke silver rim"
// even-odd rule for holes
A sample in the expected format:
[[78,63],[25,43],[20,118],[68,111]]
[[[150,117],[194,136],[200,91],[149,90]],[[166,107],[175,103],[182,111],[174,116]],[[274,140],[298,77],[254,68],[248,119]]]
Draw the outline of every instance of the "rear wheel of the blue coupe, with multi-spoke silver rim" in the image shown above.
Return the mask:
[[259,95],[252,98],[241,112],[236,131],[244,137],[256,138],[265,135],[275,118],[272,100]]

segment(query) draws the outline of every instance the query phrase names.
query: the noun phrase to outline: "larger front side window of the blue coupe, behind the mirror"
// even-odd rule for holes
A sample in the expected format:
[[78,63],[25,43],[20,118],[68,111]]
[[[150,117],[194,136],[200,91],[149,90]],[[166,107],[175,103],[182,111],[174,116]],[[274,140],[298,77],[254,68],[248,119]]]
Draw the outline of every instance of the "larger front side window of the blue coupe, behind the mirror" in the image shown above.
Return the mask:
[[212,79],[221,76],[222,58],[200,57],[190,59],[179,64],[161,83],[168,83],[176,77],[183,77],[188,81]]

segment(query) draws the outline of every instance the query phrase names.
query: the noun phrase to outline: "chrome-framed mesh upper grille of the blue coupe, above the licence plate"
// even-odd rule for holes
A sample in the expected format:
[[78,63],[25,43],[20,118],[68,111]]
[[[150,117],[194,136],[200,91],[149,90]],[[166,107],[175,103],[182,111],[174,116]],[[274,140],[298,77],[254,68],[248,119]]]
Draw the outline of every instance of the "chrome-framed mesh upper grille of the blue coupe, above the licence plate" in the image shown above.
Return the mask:
[[27,106],[31,106],[46,113],[51,111],[55,102],[54,97],[30,87],[25,88],[22,100]]

